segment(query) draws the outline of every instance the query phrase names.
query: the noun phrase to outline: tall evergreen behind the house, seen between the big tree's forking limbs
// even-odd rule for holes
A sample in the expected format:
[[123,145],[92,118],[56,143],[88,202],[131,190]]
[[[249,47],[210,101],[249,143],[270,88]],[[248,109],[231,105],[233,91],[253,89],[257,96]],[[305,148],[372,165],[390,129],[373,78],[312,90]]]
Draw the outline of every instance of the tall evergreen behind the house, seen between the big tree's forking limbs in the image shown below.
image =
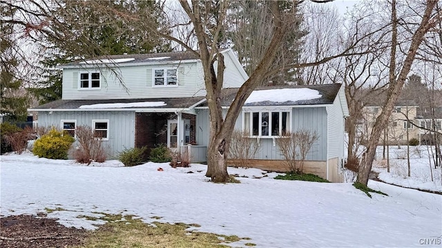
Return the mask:
[[[292,1],[278,3],[282,11],[295,10],[297,21],[285,34],[284,41],[278,50],[278,56],[273,63],[273,70],[277,70],[277,72],[267,79],[263,79],[262,85],[267,85],[267,81],[273,81],[275,85],[299,84],[302,81],[300,69],[293,69],[287,65],[300,63],[303,37],[307,35],[307,30],[302,28],[303,18],[300,6],[293,6],[298,3]],[[234,1],[231,3],[229,25],[227,25],[225,37],[233,43],[233,50],[238,52],[244,70],[249,75],[256,69],[271,40],[272,16],[267,8],[269,8],[267,1]]]

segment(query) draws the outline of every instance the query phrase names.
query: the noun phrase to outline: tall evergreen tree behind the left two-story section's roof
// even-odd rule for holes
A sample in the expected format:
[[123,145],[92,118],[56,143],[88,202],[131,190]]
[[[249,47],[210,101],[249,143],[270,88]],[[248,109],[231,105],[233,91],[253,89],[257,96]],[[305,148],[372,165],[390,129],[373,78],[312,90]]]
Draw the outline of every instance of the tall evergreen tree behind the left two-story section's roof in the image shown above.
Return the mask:
[[170,41],[151,35],[127,19],[144,15],[160,28],[160,9],[155,1],[61,1],[53,18],[64,21],[51,27],[60,34],[47,37],[51,45],[41,61],[44,79],[32,89],[40,104],[61,98],[62,73],[56,65],[97,56],[169,52]]

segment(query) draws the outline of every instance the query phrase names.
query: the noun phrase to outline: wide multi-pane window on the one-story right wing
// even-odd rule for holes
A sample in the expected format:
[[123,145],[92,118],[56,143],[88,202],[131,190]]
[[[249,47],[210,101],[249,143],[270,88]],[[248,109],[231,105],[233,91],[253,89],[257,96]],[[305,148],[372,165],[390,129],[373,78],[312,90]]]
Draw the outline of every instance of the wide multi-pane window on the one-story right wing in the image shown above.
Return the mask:
[[243,130],[249,136],[274,137],[291,131],[289,111],[244,112]]

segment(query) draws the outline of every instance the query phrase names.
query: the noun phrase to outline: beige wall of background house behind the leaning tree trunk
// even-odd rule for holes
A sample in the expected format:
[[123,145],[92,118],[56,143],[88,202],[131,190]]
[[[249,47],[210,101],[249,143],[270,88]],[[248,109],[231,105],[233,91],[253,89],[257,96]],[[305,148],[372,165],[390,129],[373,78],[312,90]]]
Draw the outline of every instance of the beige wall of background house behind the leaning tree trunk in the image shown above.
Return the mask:
[[[368,134],[372,132],[372,128],[374,125],[374,121],[381,114],[381,107],[364,107],[363,115],[364,122],[361,125],[361,130],[359,130],[363,139],[367,140]],[[417,107],[415,106],[397,106],[392,112],[392,115],[389,118],[389,123],[387,126],[387,134],[388,134],[388,143],[390,145],[398,145],[398,144],[407,144],[407,128],[406,128],[406,116],[414,123],[415,125],[420,125],[419,121],[416,120],[416,112]],[[383,142],[384,134],[381,134],[380,143]],[[408,137],[409,140],[412,138],[416,138],[419,140],[419,128],[414,126],[409,126],[408,128]]]

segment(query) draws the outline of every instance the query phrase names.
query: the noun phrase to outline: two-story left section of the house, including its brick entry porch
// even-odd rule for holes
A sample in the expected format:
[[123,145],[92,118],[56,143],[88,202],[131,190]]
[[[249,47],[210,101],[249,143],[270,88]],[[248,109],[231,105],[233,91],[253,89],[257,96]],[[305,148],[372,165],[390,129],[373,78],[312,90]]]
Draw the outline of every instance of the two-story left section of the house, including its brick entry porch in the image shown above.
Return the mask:
[[[240,87],[246,72],[232,50],[222,54],[223,86]],[[75,136],[76,127],[90,126],[110,157],[126,148],[195,142],[193,107],[205,101],[206,92],[202,63],[193,52],[106,56],[59,68],[62,98],[30,110],[38,112],[39,127]]]

